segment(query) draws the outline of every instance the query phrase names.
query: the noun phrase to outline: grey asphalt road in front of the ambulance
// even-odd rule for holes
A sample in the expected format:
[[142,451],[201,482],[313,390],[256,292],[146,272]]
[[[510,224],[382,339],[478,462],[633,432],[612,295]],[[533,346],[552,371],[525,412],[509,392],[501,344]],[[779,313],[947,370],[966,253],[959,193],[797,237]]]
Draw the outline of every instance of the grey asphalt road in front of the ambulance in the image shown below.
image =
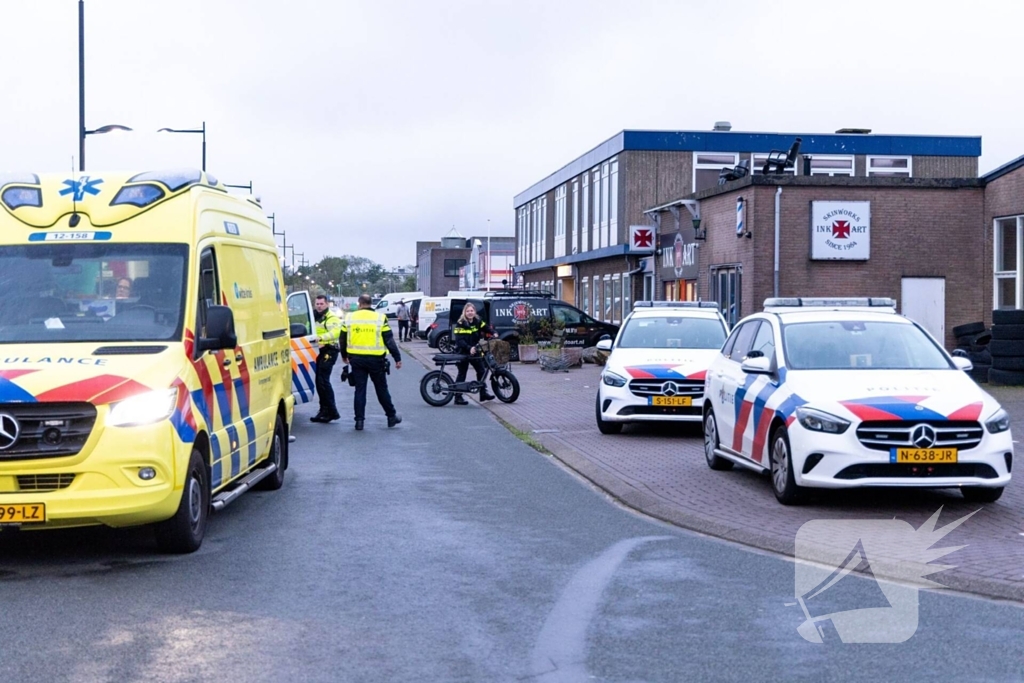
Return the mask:
[[[792,560],[642,518],[476,405],[299,411],[285,487],[203,548],[141,529],[0,533],[0,680],[1020,680],[1024,610],[922,592],[900,644],[797,632]],[[847,577],[816,613],[878,604]],[[911,589],[903,589],[911,590]],[[787,606],[788,604],[788,606]]]

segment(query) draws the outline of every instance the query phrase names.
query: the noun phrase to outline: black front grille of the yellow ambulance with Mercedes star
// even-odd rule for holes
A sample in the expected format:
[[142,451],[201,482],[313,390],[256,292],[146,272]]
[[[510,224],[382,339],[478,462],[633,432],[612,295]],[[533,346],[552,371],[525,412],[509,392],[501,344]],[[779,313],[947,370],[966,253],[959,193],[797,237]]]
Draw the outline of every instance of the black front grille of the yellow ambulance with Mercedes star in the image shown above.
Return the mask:
[[84,401],[0,403],[0,462],[77,455],[95,422]]

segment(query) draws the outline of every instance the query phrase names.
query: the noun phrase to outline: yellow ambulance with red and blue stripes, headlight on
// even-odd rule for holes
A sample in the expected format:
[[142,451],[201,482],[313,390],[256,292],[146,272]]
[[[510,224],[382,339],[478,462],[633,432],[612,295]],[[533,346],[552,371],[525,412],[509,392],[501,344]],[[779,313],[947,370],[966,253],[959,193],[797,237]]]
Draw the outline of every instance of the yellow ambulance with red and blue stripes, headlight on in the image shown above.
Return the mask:
[[153,524],[276,489],[312,313],[209,173],[0,174],[0,528]]

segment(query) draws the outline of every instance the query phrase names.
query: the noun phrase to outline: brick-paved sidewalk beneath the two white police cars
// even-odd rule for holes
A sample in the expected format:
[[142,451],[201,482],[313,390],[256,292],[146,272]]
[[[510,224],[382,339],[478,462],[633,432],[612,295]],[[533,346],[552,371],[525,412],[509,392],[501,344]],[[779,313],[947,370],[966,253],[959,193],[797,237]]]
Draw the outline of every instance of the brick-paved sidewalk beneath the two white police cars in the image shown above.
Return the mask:
[[[425,342],[403,343],[402,350],[433,369],[436,350]],[[595,421],[597,366],[549,373],[517,362],[513,372],[522,389],[519,399],[480,405],[530,433],[559,461],[639,512],[792,556],[798,529],[812,519],[897,517],[918,528],[941,507],[938,527],[980,509],[937,544],[966,547],[938,561],[954,568],[931,579],[956,590],[1024,601],[1022,481],[1012,482],[998,502],[988,505],[966,503],[956,490],[878,488],[815,492],[809,503],[785,507],[763,475],[742,468],[711,470],[699,423],[630,425],[622,434],[601,434]],[[1010,413],[1014,432],[1024,433],[1024,388],[984,388]],[[437,410],[473,409],[450,403]]]

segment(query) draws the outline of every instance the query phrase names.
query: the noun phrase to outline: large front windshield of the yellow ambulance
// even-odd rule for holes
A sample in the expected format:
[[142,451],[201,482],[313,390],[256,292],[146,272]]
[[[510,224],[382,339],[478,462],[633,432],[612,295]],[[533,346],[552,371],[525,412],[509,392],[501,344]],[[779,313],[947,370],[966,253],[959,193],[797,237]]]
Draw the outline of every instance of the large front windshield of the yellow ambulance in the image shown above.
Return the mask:
[[0,247],[0,343],[180,339],[186,245]]

